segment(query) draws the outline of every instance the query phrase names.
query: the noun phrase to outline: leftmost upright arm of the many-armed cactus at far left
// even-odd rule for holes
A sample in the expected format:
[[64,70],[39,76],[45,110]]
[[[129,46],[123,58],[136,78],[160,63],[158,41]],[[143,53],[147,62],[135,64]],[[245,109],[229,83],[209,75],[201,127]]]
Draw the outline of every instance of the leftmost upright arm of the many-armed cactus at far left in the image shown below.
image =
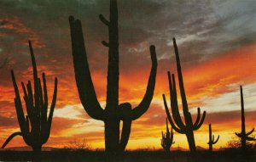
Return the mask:
[[13,81],[13,84],[15,87],[15,109],[16,109],[16,113],[17,113],[17,118],[19,121],[20,130],[25,131],[26,130],[26,120],[25,120],[23,109],[22,109],[22,104],[20,101],[20,92],[19,92],[16,80],[15,80],[15,73],[13,70],[11,70],[11,75],[12,75],[12,81]]

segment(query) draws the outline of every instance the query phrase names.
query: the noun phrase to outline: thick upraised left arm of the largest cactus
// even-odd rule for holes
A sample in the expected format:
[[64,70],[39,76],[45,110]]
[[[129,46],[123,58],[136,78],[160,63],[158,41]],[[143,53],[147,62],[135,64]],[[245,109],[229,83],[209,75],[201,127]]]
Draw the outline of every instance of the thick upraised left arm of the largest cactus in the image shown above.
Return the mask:
[[72,39],[73,66],[79,98],[90,117],[102,120],[104,111],[96,98],[96,92],[91,80],[81,22],[80,20],[74,20],[73,16],[70,16],[69,24]]

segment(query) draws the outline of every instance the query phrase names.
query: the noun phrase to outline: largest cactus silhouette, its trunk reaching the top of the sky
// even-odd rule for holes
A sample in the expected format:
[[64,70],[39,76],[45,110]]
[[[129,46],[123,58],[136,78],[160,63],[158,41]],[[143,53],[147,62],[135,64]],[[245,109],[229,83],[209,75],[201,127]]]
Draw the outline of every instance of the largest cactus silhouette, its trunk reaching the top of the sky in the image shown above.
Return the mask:
[[[131,109],[131,103],[119,104],[119,31],[118,31],[118,7],[117,0],[110,0],[109,21],[102,14],[99,18],[108,26],[109,42],[102,44],[108,47],[108,84],[106,108],[102,109],[96,98],[96,92],[90,76],[84,46],[84,36],[80,20],[69,17],[73,65],[75,79],[79,90],[79,98],[85,111],[91,118],[103,120],[105,124],[105,150],[108,153],[124,151],[131,133],[131,121],[137,120],[143,115],[151,103],[154,95],[157,59],[155,47],[150,47],[152,68],[148,78],[148,87],[141,103]],[[123,121],[121,137],[119,137],[120,121]]]

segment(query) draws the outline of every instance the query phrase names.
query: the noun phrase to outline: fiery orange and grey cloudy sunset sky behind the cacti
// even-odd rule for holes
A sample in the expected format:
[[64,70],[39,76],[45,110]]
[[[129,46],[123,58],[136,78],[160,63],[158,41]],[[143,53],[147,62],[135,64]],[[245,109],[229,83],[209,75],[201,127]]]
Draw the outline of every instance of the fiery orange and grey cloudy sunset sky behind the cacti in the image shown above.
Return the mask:
[[[197,146],[207,148],[208,124],[220,135],[213,148],[225,147],[241,131],[239,86],[243,86],[247,131],[256,127],[256,3],[253,0],[119,0],[119,103],[140,103],[146,91],[154,44],[158,73],[154,99],[148,111],[132,122],[127,149],[160,148],[166,129],[162,93],[169,100],[167,71],[177,76],[172,37],[176,37],[183,81],[194,115],[207,111],[206,120],[195,131]],[[74,139],[86,139],[91,148],[104,148],[104,125],[84,111],[74,81],[68,16],[82,21],[85,46],[96,95],[106,101],[108,28],[98,19],[108,18],[106,0],[0,0],[0,145],[19,131],[15,92],[16,80],[32,80],[27,40],[32,41],[38,71],[46,73],[49,100],[54,78],[59,80],[49,141],[44,146],[63,147]],[[22,98],[23,99],[23,98]],[[180,101],[180,99],[178,98]],[[23,100],[22,100],[23,102]],[[181,108],[181,106],[180,106]],[[195,116],[194,116],[195,117]],[[256,135],[256,132],[253,133]],[[188,148],[185,135],[174,132],[173,147]],[[15,137],[8,147],[25,146]]]

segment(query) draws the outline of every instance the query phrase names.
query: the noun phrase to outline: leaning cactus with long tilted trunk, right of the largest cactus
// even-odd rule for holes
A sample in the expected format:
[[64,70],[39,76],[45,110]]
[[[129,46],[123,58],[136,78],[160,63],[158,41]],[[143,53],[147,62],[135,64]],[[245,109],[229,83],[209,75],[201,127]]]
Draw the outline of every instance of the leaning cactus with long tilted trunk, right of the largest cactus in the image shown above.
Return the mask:
[[[173,38],[173,46],[175,50],[176,55],[176,62],[177,62],[177,76],[178,76],[178,82],[179,82],[179,89],[180,94],[182,98],[183,103],[183,116],[184,116],[184,122],[179,115],[178,112],[178,105],[177,105],[177,90],[176,90],[176,83],[175,83],[175,77],[174,74],[172,74],[168,71],[168,80],[169,80],[169,88],[170,88],[170,96],[171,96],[171,108],[172,108],[172,117],[170,115],[168,105],[166,103],[166,96],[163,94],[165,109],[166,109],[166,115],[168,120],[170,121],[170,124],[174,131],[177,131],[178,133],[185,134],[187,137],[187,140],[189,142],[189,149],[191,152],[195,152],[195,138],[194,138],[194,131],[198,130],[201,125],[203,124],[205,117],[206,117],[206,111],[203,112],[203,115],[201,117],[201,109],[197,109],[197,118],[195,120],[195,123],[193,124],[191,114],[189,113],[187,98],[185,94],[185,89],[183,86],[183,75],[182,75],[182,69],[181,64],[178,56],[178,50],[177,50],[177,44],[175,38]],[[176,125],[175,125],[176,123]]]

